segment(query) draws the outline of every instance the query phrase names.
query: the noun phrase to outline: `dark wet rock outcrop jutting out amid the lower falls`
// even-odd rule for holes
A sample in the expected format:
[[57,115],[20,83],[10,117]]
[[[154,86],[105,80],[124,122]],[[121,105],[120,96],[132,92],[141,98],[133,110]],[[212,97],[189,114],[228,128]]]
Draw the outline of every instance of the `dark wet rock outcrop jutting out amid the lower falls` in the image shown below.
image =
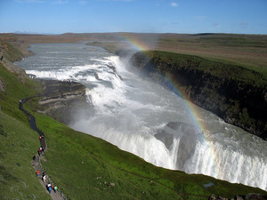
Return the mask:
[[179,140],[176,167],[182,170],[185,162],[195,152],[197,134],[198,132],[191,124],[170,122],[163,129],[157,130],[154,136],[161,140],[169,150],[173,148],[174,139]]

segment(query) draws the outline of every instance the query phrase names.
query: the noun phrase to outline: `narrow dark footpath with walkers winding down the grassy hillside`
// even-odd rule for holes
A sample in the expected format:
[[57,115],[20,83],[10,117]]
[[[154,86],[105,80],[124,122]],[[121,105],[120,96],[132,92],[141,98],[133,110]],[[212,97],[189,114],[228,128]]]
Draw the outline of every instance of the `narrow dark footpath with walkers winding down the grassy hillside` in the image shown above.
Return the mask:
[[[24,108],[23,108],[23,103],[27,102],[28,100],[30,100],[31,98],[27,98],[25,100],[20,100],[20,104],[19,104],[19,108],[20,110],[22,110],[24,112],[24,114],[26,116],[28,116],[28,120],[30,123],[30,128],[33,129],[34,131],[36,131],[39,134],[39,137],[42,137],[40,139],[40,145],[41,147],[44,149],[44,152],[46,150],[46,142],[45,142],[45,137],[44,137],[44,133],[40,132],[37,127],[36,127],[36,119],[34,116],[31,116]],[[51,183],[53,185],[53,181],[49,179],[49,175],[46,174],[46,180],[43,181],[42,180],[42,174],[44,172],[44,169],[40,163],[40,159],[42,159],[42,154],[41,153],[40,156],[38,154],[35,155],[35,159],[33,159],[30,163],[33,165],[33,167],[35,168],[35,172],[40,171],[40,176],[38,177],[39,182],[42,184],[42,186],[44,187],[45,191],[47,193],[48,190],[46,188],[46,185]],[[58,187],[58,186],[57,186]],[[58,187],[59,188],[59,187]],[[53,190],[51,191],[50,196],[52,197],[53,200],[66,200],[67,198],[65,196],[63,196],[61,194],[61,192],[58,190],[57,192],[54,192]]]

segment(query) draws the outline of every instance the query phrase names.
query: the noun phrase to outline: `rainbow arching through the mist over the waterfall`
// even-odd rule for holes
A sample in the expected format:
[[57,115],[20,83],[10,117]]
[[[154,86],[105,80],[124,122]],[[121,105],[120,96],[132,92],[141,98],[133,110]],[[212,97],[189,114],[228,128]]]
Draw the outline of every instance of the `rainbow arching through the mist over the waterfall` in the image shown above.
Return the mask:
[[[137,51],[148,51],[150,50],[150,46],[148,44],[143,43],[141,40],[134,36],[123,36],[125,39],[125,42],[130,44],[134,49]],[[174,80],[174,77],[171,76],[171,74],[166,74],[166,79],[168,80],[169,88],[172,88],[172,91],[176,94],[178,94],[182,99],[184,99],[183,103],[188,111],[188,115],[190,116],[191,122],[193,122],[194,127],[196,128],[197,132],[201,132],[204,141],[206,142],[206,145],[208,146],[210,152],[211,152],[211,159],[213,159],[213,163],[215,165],[214,171],[215,171],[215,178],[222,177],[220,172],[220,164],[217,159],[216,152],[214,150],[213,141],[209,137],[209,131],[206,127],[205,121],[202,120],[202,116],[198,111],[198,107],[191,103],[192,100],[190,100],[190,97],[186,94],[186,92],[182,89],[182,86],[177,82],[177,80]]]

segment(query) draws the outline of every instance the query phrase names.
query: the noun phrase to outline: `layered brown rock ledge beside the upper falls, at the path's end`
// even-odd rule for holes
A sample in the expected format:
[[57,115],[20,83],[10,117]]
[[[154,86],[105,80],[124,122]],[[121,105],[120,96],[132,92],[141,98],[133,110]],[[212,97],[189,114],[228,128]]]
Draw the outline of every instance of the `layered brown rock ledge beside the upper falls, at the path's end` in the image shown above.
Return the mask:
[[44,85],[44,90],[39,100],[39,112],[52,116],[61,123],[69,124],[77,110],[90,108],[86,102],[85,85],[44,79],[40,82]]

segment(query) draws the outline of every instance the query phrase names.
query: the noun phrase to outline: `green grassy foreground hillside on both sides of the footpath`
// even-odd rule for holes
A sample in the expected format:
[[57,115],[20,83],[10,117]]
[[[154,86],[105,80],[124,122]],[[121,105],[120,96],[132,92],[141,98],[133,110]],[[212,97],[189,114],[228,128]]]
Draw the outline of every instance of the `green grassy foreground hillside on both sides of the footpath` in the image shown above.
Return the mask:
[[[0,78],[5,85],[0,92],[0,198],[49,199],[30,165],[39,147],[37,133],[29,129],[18,108],[19,100],[36,94],[40,86],[28,79],[22,84],[19,76],[1,63]],[[35,113],[36,102],[28,101],[24,108],[36,116],[36,124],[46,136],[42,164],[68,199],[207,199],[210,194],[267,194],[259,188],[156,167],[104,140]],[[203,184],[209,182],[214,187],[205,188]]]

